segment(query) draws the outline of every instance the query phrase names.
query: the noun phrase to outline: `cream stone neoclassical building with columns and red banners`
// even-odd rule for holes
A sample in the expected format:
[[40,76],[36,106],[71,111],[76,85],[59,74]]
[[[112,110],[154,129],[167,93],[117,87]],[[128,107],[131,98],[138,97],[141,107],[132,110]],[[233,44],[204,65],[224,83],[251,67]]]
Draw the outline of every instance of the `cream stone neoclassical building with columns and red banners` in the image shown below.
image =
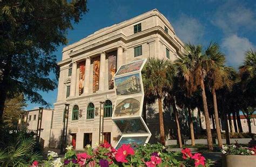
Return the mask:
[[[68,141],[76,149],[83,149],[86,144],[94,146],[99,141],[100,101],[104,101],[104,140],[113,146],[117,144],[120,133],[111,119],[116,99],[113,88],[116,70],[121,64],[147,57],[173,61],[182,50],[183,42],[156,9],[102,28],[64,47],[62,61],[58,62],[60,74],[51,129],[52,147],[60,144],[65,104],[70,104]],[[134,87],[136,78],[131,80],[126,88]],[[158,105],[155,106],[157,112]]]

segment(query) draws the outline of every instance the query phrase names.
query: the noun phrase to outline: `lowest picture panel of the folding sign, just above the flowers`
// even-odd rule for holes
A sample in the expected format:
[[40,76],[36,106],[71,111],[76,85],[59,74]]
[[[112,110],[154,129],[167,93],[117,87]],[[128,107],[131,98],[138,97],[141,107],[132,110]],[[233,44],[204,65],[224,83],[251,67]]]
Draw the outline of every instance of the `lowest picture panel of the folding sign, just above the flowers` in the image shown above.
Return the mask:
[[123,144],[131,144],[138,145],[138,144],[144,144],[147,140],[147,136],[136,136],[136,137],[122,137],[122,139],[117,144],[116,149],[121,147]]

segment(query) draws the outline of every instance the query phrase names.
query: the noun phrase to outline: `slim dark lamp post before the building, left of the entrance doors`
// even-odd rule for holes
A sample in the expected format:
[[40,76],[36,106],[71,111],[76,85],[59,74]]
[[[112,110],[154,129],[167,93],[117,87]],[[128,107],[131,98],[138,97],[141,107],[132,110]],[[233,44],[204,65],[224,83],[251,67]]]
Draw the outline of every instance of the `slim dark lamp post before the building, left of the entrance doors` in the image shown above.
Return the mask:
[[68,134],[68,121],[69,121],[69,104],[65,104],[64,110],[64,124],[62,130],[62,142],[60,144],[60,154],[65,153],[65,146],[66,146],[66,135]]

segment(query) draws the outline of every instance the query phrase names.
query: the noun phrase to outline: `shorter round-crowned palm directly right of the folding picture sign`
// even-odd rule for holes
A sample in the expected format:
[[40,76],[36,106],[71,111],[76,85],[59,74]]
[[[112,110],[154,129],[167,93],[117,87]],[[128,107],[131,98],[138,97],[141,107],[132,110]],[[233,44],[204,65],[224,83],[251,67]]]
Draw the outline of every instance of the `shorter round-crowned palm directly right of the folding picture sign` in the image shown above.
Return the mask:
[[150,92],[158,100],[160,142],[165,145],[162,99],[173,86],[173,64],[169,60],[150,58],[142,72],[145,92]]

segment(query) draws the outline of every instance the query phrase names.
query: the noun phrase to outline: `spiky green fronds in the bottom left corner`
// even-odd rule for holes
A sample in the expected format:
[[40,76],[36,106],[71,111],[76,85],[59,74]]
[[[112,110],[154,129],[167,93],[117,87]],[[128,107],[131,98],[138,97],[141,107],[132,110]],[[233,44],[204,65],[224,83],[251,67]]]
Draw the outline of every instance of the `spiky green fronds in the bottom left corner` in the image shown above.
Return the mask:
[[[7,134],[7,133],[8,134]],[[0,164],[2,166],[28,166],[33,161],[40,161],[43,156],[39,151],[36,139],[25,131],[12,132],[1,130],[9,140],[2,141],[0,144]]]

